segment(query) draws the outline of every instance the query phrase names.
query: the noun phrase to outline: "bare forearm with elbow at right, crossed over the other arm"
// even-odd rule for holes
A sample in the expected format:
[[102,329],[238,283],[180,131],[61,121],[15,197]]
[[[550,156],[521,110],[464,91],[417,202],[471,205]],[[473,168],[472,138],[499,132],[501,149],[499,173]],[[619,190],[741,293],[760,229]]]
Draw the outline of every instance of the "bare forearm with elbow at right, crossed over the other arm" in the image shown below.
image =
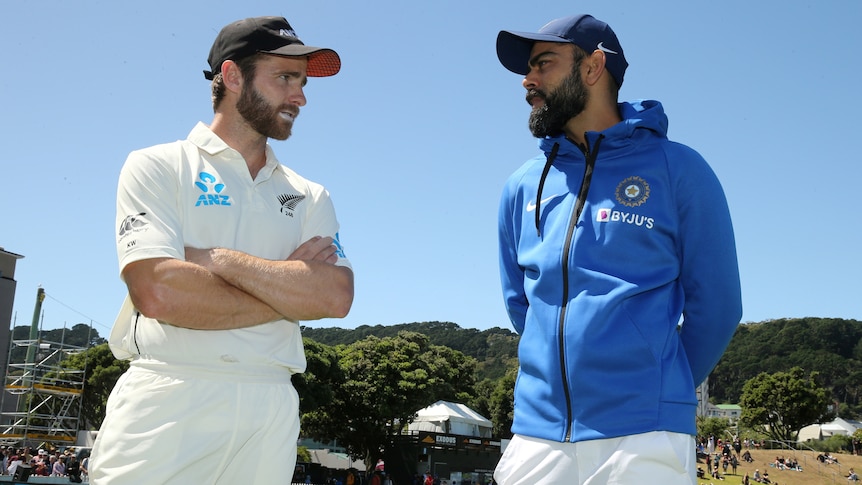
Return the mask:
[[342,318],[353,303],[353,271],[305,259],[271,261],[213,249],[205,267],[289,320]]

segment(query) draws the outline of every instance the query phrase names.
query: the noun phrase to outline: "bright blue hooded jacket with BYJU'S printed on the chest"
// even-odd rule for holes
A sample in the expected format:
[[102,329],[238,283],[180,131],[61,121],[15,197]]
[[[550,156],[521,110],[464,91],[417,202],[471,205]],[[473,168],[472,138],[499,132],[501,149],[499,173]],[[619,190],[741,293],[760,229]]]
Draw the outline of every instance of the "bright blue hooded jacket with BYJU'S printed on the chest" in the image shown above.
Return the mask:
[[[657,101],[540,140],[499,212],[506,308],[521,336],[512,431],[584,441],[695,434],[695,387],[742,315],[730,214]],[[543,173],[546,172],[546,173]]]

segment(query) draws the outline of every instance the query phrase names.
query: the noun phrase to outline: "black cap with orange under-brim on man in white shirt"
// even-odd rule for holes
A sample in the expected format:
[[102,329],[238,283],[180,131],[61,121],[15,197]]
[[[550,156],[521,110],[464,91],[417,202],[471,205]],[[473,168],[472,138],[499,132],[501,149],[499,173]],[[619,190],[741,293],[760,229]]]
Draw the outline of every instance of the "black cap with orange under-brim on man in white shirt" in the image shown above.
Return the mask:
[[341,69],[341,58],[334,50],[303,44],[284,17],[253,17],[238,20],[219,32],[207,58],[210,70],[204,71],[204,77],[212,80],[224,61],[258,52],[307,57],[309,77],[333,76]]

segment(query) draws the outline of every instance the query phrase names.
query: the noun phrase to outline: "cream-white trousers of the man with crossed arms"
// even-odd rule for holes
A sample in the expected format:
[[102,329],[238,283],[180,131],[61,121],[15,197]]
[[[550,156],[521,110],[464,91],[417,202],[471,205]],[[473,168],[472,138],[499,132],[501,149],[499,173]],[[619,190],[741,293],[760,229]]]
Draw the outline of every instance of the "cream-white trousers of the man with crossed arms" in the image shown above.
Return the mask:
[[90,483],[290,483],[299,397],[289,375],[255,377],[207,378],[133,365],[108,400]]

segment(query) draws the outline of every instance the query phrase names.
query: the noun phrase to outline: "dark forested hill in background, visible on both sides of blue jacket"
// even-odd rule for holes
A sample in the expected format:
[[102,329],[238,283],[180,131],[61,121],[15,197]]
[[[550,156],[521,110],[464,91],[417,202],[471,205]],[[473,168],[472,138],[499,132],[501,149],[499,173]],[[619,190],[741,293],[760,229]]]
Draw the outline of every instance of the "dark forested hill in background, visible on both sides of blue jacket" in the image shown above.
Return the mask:
[[[475,358],[477,382],[502,377],[517,366],[518,335],[510,329],[461,328],[451,322],[363,325],[356,329],[303,327],[303,335],[322,344],[347,345],[369,335],[391,337],[402,330],[422,333],[434,345]],[[801,367],[818,372],[842,417],[862,417],[862,322],[838,318],[793,318],[739,326],[709,378],[710,400],[737,403],[745,382],[761,372]]]

